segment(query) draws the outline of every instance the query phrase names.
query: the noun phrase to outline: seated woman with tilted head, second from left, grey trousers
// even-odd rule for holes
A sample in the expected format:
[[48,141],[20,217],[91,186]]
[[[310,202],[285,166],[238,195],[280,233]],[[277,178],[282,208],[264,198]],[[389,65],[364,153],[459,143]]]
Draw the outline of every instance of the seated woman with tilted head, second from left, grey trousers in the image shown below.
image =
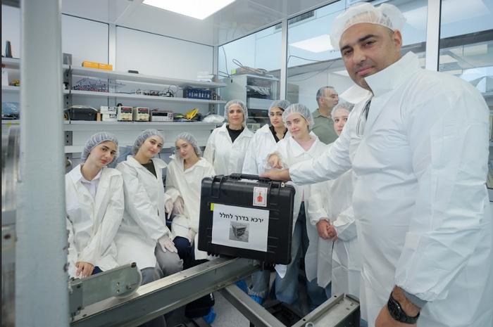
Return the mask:
[[132,153],[116,167],[123,174],[125,212],[115,241],[118,263],[136,262],[142,283],[182,270],[182,260],[170,239],[164,209],[162,169],[154,158],[163,148],[163,136],[146,129],[137,136]]

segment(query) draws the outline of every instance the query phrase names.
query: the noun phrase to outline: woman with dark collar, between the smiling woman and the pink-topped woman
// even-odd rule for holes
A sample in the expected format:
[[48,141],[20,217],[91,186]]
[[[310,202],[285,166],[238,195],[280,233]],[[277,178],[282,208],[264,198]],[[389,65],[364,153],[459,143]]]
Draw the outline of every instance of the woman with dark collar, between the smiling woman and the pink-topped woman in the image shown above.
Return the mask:
[[[282,121],[282,113],[289,106],[289,101],[278,100],[270,104],[268,115],[270,126],[263,125],[255,132],[246,150],[243,162],[243,173],[258,175],[269,169],[267,155],[276,149],[276,143],[289,135]],[[265,299],[269,286],[270,271],[268,269],[257,271],[251,275],[252,286],[249,289],[250,297],[262,303]]]

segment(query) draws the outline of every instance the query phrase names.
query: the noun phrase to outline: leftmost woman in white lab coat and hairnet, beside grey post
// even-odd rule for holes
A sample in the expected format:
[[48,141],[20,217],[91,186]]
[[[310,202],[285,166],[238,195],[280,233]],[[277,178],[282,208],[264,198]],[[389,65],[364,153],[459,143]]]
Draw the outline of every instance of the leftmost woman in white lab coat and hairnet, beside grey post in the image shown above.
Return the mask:
[[117,153],[115,136],[94,134],[85,143],[80,165],[65,175],[70,277],[118,266],[113,238],[123,217],[123,179],[118,170],[106,167]]

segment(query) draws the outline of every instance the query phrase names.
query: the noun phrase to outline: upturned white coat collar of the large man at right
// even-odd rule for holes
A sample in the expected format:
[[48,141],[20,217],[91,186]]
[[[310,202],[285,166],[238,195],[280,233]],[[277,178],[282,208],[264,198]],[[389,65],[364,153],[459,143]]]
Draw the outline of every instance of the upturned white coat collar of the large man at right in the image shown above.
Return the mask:
[[413,72],[420,68],[418,56],[409,51],[397,62],[365,78],[373,96],[381,96],[401,85]]

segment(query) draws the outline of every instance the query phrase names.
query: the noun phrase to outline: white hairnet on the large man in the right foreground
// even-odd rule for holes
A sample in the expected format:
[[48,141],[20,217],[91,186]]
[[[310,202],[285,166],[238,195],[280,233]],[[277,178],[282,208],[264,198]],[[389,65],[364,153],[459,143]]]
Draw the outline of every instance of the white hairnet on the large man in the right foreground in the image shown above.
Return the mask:
[[371,23],[382,25],[390,30],[402,30],[406,18],[392,4],[381,4],[378,8],[367,2],[351,6],[335,18],[330,33],[330,43],[334,49],[339,49],[339,41],[346,30],[356,24]]

